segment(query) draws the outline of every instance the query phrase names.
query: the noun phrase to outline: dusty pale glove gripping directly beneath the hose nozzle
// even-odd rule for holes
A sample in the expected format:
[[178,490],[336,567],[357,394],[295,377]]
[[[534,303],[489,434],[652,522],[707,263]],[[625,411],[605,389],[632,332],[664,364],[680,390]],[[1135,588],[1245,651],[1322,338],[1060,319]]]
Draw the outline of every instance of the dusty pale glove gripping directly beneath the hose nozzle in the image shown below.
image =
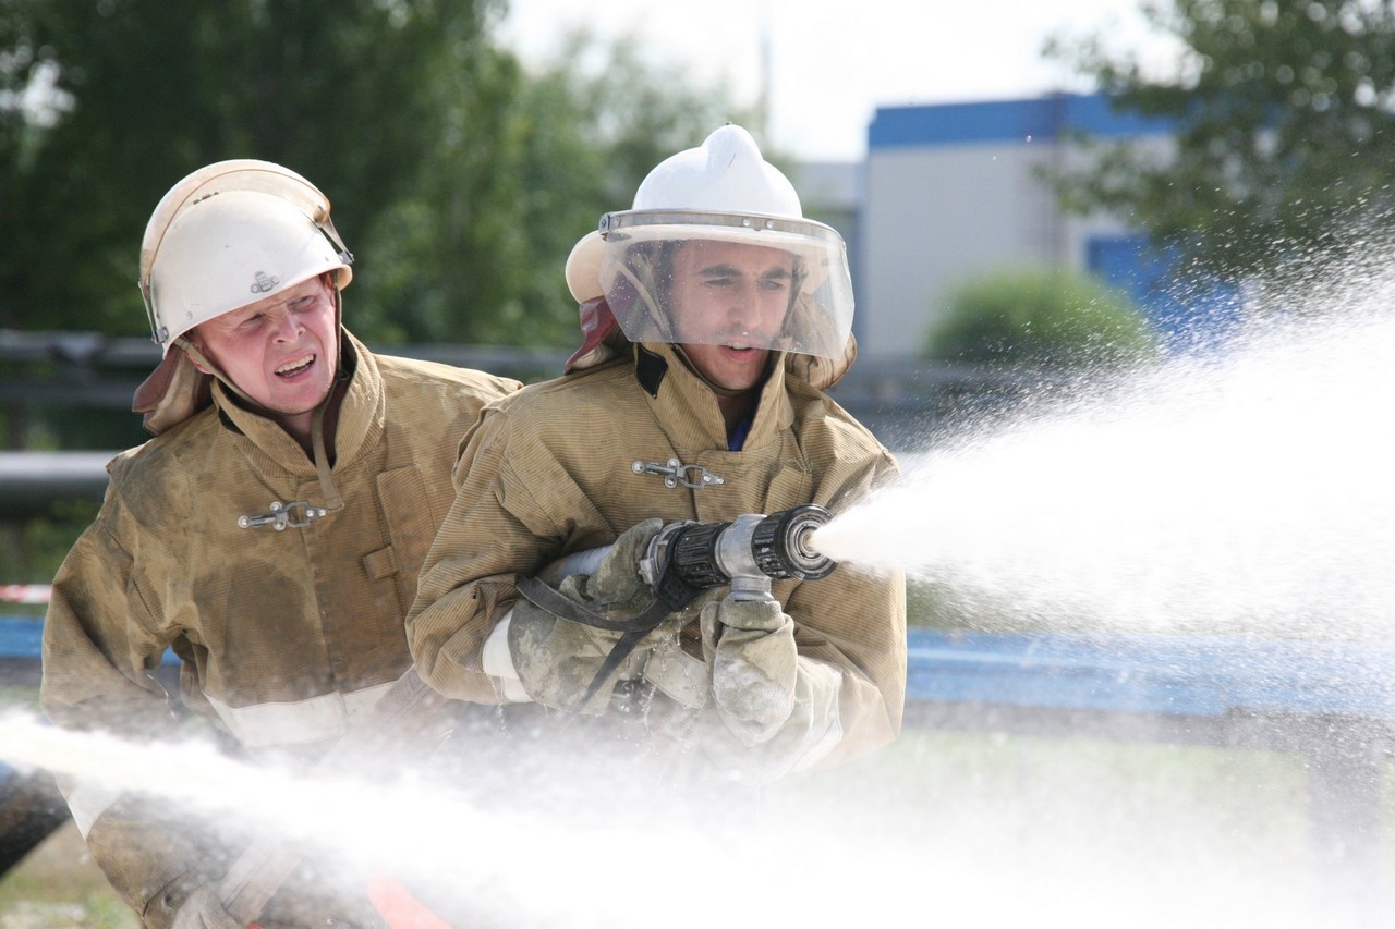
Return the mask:
[[717,716],[742,745],[771,739],[794,711],[794,619],[776,600],[725,597],[700,621]]

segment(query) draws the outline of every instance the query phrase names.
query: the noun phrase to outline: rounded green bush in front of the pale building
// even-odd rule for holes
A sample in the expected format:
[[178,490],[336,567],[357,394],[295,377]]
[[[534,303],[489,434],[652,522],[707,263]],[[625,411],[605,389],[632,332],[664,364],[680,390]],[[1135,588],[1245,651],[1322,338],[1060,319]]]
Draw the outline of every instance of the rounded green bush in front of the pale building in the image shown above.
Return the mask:
[[1080,370],[1137,361],[1156,338],[1124,294],[1064,268],[1016,268],[958,287],[925,354],[989,367]]

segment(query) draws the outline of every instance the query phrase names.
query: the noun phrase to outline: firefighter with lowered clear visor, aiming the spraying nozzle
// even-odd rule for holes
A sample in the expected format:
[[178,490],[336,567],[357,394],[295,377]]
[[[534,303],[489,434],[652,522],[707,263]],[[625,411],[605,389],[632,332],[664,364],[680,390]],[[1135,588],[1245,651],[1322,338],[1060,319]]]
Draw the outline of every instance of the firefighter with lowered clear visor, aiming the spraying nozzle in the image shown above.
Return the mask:
[[[569,745],[601,741],[596,716],[628,731],[610,745],[667,738],[684,759],[668,783],[674,767],[689,784],[764,783],[893,739],[900,575],[840,568],[777,580],[771,598],[717,587],[664,619],[594,696],[621,632],[568,605],[614,621],[644,610],[639,562],[677,520],[805,504],[836,513],[897,476],[823,392],[855,356],[843,240],[804,219],[785,177],[727,126],[660,163],[633,209],[603,216],[566,280],[586,333],[566,375],[491,405],[463,448],[407,618],[423,679],[453,697],[548,707]],[[607,545],[561,582],[566,604],[520,597],[522,579]],[[628,792],[636,780],[612,784]]]

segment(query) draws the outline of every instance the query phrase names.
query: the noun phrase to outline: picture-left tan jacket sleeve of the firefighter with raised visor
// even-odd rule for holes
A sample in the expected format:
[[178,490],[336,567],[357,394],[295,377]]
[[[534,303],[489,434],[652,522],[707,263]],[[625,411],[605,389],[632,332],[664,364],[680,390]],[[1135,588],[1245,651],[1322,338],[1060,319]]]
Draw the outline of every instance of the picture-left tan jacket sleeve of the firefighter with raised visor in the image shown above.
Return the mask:
[[[109,492],[54,579],[43,625],[40,703],[64,728],[134,742],[179,738],[172,699],[151,675],[167,642],[151,621],[130,545],[113,530],[119,511]],[[167,925],[184,896],[208,880],[202,872],[220,868],[197,820],[180,822],[180,810],[169,803],[98,780],[63,777],[60,785],[98,865],[146,925]]]

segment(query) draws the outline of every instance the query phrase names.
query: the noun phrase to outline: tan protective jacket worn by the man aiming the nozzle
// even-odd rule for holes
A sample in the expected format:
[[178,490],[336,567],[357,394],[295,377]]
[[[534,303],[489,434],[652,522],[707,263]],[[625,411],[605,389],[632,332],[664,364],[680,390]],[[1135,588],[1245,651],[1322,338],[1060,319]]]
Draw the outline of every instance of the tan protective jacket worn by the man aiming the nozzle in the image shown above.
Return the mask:
[[[417,670],[446,696],[499,700],[498,681],[483,671],[483,644],[516,598],[516,580],[557,558],[608,545],[654,516],[727,522],[801,504],[838,513],[897,474],[870,432],[781,365],[742,451],[727,451],[716,396],[674,347],[631,349],[495,403],[467,438],[459,495],[407,617]],[[691,483],[700,483],[699,467],[723,483],[668,487],[660,474],[636,473],[636,463],[671,459],[692,469],[684,474]],[[801,657],[843,671],[841,739],[820,766],[893,739],[905,696],[903,576],[844,565],[816,582],[776,582],[773,593],[797,624]]]

